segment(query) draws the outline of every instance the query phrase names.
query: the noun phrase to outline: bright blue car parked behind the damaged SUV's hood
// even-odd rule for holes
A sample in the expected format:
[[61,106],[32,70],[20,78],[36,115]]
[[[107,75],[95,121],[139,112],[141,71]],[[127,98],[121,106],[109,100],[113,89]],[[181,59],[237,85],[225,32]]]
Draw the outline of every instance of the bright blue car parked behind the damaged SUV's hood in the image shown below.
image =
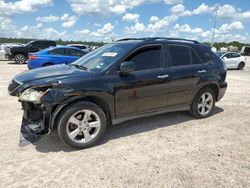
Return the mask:
[[85,55],[87,52],[75,47],[58,46],[29,54],[28,68],[35,69],[57,64],[69,64]]

